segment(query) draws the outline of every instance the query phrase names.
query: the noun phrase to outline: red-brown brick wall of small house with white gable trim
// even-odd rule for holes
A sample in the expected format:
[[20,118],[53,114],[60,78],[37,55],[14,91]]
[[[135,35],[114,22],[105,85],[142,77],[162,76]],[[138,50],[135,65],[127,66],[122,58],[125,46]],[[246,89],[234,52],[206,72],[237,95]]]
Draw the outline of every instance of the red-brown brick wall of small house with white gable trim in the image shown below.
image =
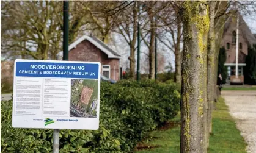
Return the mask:
[[71,49],[68,58],[71,61],[100,62],[101,65],[110,65],[111,79],[119,80],[119,59],[109,59],[107,54],[87,40]]

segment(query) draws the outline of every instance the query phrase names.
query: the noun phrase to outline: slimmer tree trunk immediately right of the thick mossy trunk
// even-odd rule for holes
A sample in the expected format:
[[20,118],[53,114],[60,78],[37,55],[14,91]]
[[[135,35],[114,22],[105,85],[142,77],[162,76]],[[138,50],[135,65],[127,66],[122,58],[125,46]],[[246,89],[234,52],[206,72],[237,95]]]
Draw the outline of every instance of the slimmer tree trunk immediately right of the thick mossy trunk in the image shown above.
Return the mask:
[[214,102],[214,93],[213,91],[216,88],[214,85],[214,69],[215,69],[215,30],[214,30],[214,18],[215,18],[215,5],[216,1],[210,1],[209,3],[209,18],[210,18],[210,27],[208,32],[208,51],[207,51],[207,103],[208,103],[208,110],[207,110],[207,148],[209,147],[209,137],[210,137],[210,126],[212,126],[212,110],[213,110],[213,102]]

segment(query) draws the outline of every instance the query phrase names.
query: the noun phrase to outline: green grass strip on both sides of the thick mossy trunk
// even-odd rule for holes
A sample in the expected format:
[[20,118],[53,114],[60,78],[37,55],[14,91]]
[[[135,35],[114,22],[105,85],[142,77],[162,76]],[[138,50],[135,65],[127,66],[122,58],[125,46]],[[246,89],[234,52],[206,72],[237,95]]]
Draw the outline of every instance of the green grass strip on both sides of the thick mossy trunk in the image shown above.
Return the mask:
[[[224,99],[220,98],[216,104],[217,110],[213,112],[213,134],[210,135],[210,148],[208,152],[218,153],[246,153],[246,143],[236,129],[233,118],[229,115]],[[172,119],[172,123],[180,123],[180,114]],[[139,149],[136,153],[164,153],[180,152],[180,126],[167,130],[156,130],[150,133],[149,141],[145,140],[140,146],[151,149]]]

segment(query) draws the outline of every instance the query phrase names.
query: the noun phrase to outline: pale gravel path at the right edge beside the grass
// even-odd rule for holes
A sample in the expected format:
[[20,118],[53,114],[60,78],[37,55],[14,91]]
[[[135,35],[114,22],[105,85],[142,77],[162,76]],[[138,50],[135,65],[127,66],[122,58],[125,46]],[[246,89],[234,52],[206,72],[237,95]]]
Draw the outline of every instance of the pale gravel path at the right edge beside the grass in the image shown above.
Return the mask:
[[248,153],[256,152],[256,91],[222,91],[230,114],[248,144]]

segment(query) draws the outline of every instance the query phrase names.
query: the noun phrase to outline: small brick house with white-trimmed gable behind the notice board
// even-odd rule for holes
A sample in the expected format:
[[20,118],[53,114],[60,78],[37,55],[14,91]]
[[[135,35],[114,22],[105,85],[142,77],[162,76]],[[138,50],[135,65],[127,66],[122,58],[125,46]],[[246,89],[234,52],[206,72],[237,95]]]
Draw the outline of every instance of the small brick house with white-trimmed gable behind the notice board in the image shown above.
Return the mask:
[[[68,60],[89,61],[101,63],[101,75],[106,79],[120,79],[119,60],[121,56],[97,37],[87,35],[78,38],[68,46]],[[63,52],[57,54],[57,59],[62,60]]]

